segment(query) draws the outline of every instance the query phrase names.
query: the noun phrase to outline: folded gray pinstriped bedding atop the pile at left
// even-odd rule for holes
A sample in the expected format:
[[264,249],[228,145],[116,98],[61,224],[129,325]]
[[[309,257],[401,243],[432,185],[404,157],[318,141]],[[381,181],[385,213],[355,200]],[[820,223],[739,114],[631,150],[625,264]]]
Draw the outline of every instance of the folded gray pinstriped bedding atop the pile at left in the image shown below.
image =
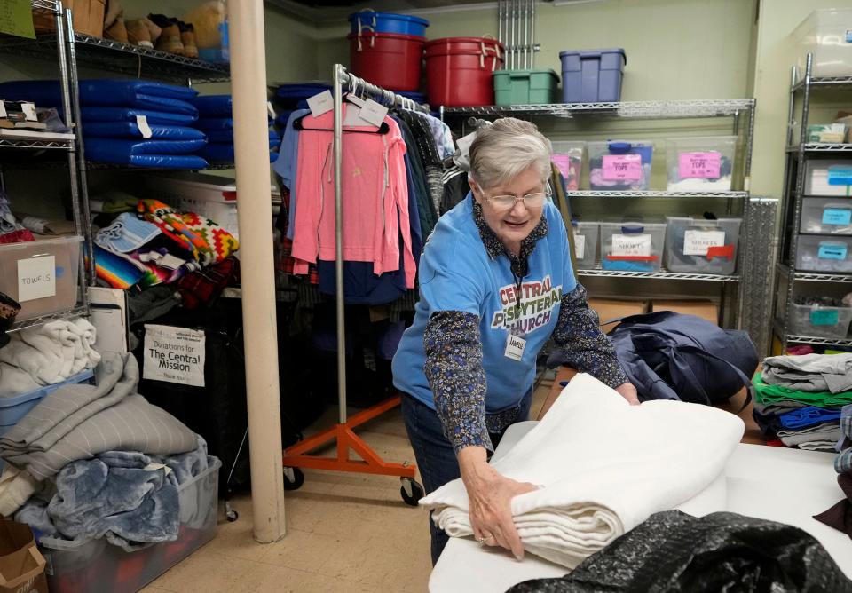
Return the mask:
[[198,447],[193,431],[136,393],[138,376],[132,355],[106,354],[97,385],[67,385],[43,399],[0,438],[0,457],[44,479],[106,451],[175,455]]

